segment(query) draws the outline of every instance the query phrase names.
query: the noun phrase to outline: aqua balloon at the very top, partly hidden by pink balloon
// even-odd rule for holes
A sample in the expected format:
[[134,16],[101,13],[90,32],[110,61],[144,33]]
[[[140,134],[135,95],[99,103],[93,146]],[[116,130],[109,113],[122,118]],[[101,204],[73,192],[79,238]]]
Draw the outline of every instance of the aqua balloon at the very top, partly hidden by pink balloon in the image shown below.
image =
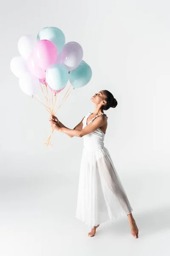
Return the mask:
[[43,39],[53,42],[58,53],[62,51],[62,47],[65,45],[65,35],[62,30],[57,27],[45,27],[41,29],[37,35],[37,41]]

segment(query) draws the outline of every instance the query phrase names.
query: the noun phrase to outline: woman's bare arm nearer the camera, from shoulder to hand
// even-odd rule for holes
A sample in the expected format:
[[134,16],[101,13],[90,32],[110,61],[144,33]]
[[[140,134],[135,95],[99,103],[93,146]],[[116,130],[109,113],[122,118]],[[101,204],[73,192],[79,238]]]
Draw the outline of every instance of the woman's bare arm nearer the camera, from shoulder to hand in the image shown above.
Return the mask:
[[106,122],[105,116],[99,116],[98,118],[94,119],[93,122],[86,125],[85,128],[77,130],[77,129],[69,129],[65,127],[56,127],[55,123],[51,122],[51,127],[56,129],[57,131],[61,131],[69,136],[76,136],[76,137],[83,137],[86,134],[89,134],[93,131],[95,131],[97,128],[103,126]]

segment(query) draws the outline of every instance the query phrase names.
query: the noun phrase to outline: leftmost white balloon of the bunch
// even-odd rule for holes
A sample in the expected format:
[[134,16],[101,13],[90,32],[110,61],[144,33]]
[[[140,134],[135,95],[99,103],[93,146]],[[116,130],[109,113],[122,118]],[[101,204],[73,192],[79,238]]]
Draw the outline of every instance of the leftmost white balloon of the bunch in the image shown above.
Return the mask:
[[12,58],[10,67],[12,73],[18,78],[26,75],[29,71],[27,61],[21,56]]

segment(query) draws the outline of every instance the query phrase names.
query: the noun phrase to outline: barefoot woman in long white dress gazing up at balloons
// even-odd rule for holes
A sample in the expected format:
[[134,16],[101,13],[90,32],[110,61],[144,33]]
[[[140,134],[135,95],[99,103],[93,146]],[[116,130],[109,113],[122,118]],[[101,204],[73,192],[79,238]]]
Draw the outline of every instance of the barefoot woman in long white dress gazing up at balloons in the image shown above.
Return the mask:
[[84,148],[79,173],[79,189],[76,218],[91,228],[88,236],[94,236],[99,224],[127,215],[131,234],[138,238],[138,227],[132,215],[132,207],[113,165],[104,138],[108,116],[103,112],[117,105],[108,90],[96,93],[94,112],[87,113],[74,128],[65,127],[56,116],[51,116],[51,127],[70,137],[84,137]]

